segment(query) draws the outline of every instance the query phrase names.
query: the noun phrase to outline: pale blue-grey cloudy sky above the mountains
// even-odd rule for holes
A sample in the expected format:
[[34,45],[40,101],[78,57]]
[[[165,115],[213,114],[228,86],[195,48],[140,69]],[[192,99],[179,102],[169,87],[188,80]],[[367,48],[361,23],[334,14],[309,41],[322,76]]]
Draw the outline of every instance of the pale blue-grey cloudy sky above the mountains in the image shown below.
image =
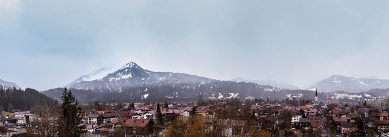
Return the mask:
[[0,0],[0,79],[44,91],[101,67],[307,88],[389,79],[388,0]]

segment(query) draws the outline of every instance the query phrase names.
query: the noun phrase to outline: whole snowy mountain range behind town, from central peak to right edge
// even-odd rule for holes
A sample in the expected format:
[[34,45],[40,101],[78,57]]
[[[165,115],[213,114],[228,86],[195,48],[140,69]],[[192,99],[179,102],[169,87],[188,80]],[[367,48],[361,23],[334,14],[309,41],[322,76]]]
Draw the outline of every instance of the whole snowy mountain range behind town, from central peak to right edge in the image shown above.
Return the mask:
[[[317,82],[319,99],[333,96],[333,91],[361,92],[375,96],[389,96],[389,80],[356,79],[346,76],[331,76]],[[128,102],[129,100],[165,100],[203,98],[270,98],[283,100],[286,97],[313,99],[315,91],[299,90],[297,86],[275,80],[247,80],[241,77],[230,81],[172,72],[154,72],[141,68],[134,62],[120,69],[101,68],[81,76],[66,86],[81,103],[94,101]],[[43,94],[60,101],[63,88],[42,91]],[[345,94],[349,94],[344,92]]]

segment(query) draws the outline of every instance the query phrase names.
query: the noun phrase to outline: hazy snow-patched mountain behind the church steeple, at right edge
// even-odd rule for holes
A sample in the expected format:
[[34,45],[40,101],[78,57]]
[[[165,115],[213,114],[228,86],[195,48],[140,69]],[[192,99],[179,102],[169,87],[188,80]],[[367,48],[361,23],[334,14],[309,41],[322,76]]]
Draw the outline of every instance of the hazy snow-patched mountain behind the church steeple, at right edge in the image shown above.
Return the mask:
[[314,84],[311,88],[318,88],[323,92],[349,91],[357,93],[369,91],[371,89],[387,89],[389,88],[389,80],[373,78],[358,79],[354,77],[333,75]]

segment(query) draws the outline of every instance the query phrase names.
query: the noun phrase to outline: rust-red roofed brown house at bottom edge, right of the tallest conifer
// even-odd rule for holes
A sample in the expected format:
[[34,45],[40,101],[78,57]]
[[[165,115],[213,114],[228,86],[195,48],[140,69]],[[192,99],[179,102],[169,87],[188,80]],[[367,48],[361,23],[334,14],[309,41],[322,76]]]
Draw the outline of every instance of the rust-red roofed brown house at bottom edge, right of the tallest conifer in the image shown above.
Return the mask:
[[153,137],[154,122],[149,119],[128,119],[123,126],[126,127],[127,135],[136,135],[137,137]]

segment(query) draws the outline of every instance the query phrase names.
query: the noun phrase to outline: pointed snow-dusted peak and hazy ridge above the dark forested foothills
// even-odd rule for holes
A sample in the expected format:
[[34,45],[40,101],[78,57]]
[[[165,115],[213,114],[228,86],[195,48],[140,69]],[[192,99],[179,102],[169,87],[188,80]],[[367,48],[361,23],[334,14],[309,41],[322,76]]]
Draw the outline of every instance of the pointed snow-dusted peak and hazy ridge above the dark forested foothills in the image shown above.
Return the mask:
[[[111,70],[109,70],[111,71]],[[109,72],[105,71],[105,72]],[[100,72],[100,71],[96,71]],[[69,88],[93,91],[123,91],[128,88],[147,85],[172,85],[177,83],[199,83],[215,81],[210,78],[182,73],[153,72],[145,70],[134,62],[125,64],[122,68],[106,76],[92,80],[89,75],[82,76],[68,85]],[[93,76],[91,76],[93,77]],[[83,79],[88,80],[83,80]]]

